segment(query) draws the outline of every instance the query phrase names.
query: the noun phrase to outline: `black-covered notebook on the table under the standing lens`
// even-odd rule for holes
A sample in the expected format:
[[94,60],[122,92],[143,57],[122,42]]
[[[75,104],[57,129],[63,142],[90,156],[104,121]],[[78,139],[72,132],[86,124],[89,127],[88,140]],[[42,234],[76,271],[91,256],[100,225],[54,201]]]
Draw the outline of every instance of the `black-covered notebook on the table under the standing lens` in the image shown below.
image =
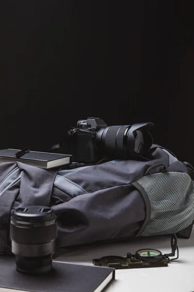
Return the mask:
[[47,274],[21,274],[16,271],[15,257],[0,256],[0,288],[10,292],[101,292],[112,279],[113,268],[59,261],[53,261],[53,270]]

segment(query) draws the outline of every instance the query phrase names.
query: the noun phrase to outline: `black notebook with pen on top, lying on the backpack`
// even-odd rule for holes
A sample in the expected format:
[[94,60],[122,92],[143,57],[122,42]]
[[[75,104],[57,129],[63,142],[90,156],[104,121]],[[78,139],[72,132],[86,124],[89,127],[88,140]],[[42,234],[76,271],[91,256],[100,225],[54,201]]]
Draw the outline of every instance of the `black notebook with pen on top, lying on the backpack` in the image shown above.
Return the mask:
[[58,154],[51,152],[29,151],[21,157],[16,158],[15,154],[20,151],[18,149],[2,149],[0,150],[0,163],[3,162],[22,162],[40,168],[54,168],[64,166],[70,163],[71,155]]

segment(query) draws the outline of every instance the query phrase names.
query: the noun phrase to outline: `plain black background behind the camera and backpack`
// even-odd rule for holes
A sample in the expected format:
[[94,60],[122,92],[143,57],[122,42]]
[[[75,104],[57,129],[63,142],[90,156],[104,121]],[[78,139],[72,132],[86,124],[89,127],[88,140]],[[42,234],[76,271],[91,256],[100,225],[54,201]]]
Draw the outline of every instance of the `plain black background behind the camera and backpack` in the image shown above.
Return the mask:
[[194,164],[192,1],[0,2],[0,148],[47,151],[79,119],[153,122]]

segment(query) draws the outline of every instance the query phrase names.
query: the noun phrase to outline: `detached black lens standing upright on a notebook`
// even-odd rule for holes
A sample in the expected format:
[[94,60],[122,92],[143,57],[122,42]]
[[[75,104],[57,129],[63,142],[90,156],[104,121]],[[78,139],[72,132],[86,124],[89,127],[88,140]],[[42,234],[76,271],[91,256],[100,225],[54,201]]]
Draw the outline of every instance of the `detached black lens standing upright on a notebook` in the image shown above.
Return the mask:
[[10,221],[12,253],[16,270],[42,274],[52,269],[57,237],[56,216],[45,206],[26,206],[13,211]]

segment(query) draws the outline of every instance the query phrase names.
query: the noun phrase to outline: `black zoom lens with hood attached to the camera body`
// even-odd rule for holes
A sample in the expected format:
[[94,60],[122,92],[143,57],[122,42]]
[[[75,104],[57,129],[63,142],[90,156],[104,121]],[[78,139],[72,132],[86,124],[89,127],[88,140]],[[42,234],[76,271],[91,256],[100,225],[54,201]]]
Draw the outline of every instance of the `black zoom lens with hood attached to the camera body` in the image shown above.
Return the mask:
[[96,146],[102,156],[116,159],[143,156],[152,145],[152,136],[148,132],[154,124],[134,124],[109,126],[97,131]]

